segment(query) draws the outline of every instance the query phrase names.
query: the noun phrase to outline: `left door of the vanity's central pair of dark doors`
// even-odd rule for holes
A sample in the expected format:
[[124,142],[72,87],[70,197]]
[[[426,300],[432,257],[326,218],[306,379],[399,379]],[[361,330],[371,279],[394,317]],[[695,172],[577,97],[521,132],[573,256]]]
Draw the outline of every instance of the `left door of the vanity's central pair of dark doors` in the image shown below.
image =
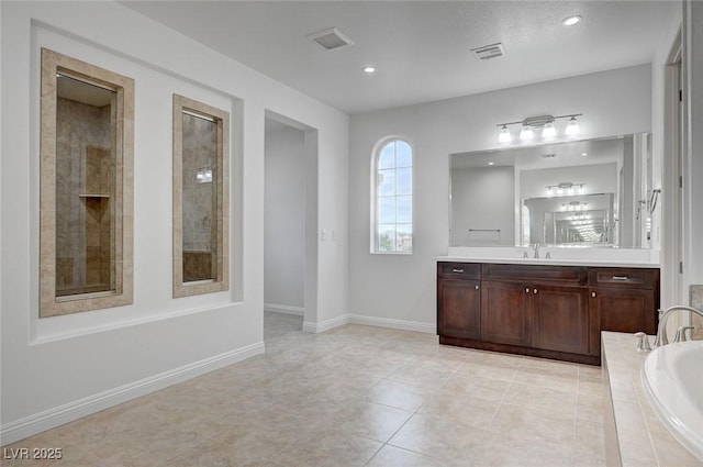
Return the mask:
[[529,346],[532,289],[518,282],[481,283],[481,340]]

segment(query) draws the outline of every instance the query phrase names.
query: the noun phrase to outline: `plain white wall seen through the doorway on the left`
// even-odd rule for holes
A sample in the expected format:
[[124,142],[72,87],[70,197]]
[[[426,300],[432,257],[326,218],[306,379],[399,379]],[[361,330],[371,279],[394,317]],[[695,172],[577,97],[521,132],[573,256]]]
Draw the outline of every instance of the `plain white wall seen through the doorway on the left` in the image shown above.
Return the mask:
[[302,314],[305,254],[304,133],[266,120],[264,303]]

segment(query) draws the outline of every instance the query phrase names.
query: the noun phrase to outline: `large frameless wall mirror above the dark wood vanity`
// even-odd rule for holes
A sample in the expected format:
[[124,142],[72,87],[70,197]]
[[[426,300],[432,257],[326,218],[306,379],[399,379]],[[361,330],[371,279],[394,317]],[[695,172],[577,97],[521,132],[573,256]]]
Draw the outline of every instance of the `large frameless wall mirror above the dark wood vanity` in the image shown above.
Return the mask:
[[648,133],[450,155],[450,246],[650,247]]

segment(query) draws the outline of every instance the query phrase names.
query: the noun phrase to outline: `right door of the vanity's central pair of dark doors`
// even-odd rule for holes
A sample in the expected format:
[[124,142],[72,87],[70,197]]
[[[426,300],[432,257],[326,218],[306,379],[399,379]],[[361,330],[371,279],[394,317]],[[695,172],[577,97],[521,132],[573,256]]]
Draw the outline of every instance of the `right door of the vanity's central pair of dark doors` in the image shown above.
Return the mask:
[[583,287],[534,286],[532,345],[585,354],[589,349],[589,294]]

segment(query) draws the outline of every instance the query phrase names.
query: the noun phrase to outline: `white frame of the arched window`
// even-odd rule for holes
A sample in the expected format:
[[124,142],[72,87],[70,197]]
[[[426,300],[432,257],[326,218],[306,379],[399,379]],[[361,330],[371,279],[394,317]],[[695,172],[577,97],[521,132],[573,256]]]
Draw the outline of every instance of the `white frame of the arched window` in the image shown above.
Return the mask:
[[[379,170],[379,160],[381,157],[381,154],[383,153],[383,149],[386,149],[386,147],[388,147],[390,144],[394,144],[398,142],[402,142],[405,143],[409,147],[410,147],[410,169],[411,169],[411,180],[410,180],[410,198],[411,198],[411,221],[410,221],[410,225],[412,229],[412,236],[411,236],[411,246],[410,246],[410,251],[399,251],[397,249],[398,244],[395,243],[394,247],[395,249],[393,249],[392,252],[387,252],[387,251],[381,251],[379,249],[379,236],[378,236],[378,226],[379,226],[379,219],[378,219],[378,200],[379,200],[379,186],[378,186],[378,170]],[[370,181],[371,181],[371,199],[370,199],[370,212],[371,212],[371,219],[370,219],[370,253],[373,255],[412,255],[413,251],[414,251],[414,226],[415,226],[415,157],[414,157],[414,149],[413,149],[413,145],[411,144],[411,142],[403,137],[403,136],[388,136],[384,137],[382,140],[380,140],[376,146],[373,147],[373,152],[372,152],[372,156],[371,156],[371,174],[370,174]],[[398,165],[394,164],[393,169],[398,170]],[[404,167],[402,167],[404,168]],[[394,194],[395,198],[398,198],[398,194]],[[395,208],[395,212],[398,213],[398,208]],[[398,221],[398,220],[397,220]],[[408,223],[403,223],[402,225],[406,225]],[[399,223],[395,222],[394,223],[395,227],[398,227]]]

